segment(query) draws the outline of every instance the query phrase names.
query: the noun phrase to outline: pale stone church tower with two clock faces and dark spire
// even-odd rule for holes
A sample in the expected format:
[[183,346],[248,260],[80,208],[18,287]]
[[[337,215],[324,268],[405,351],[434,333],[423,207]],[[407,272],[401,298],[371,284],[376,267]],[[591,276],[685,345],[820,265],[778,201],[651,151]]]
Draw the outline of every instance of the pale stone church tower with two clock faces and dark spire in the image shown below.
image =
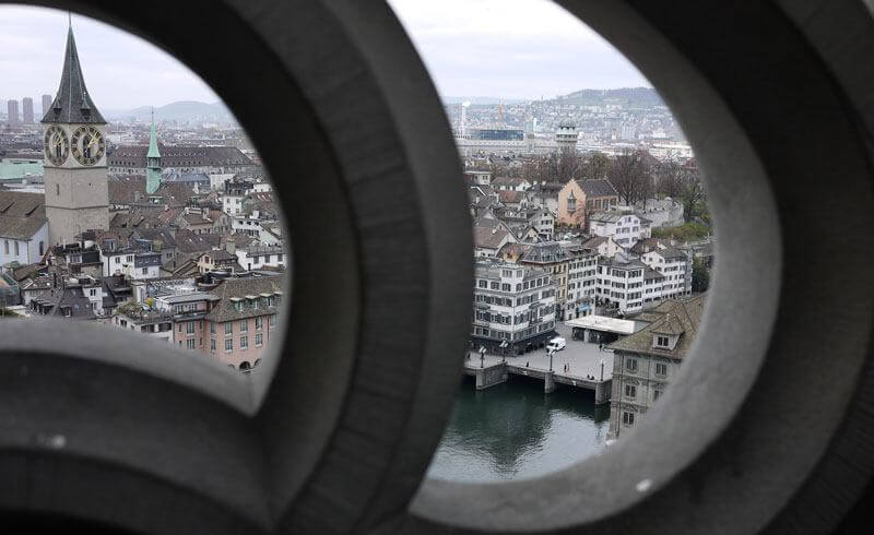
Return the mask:
[[109,228],[106,121],[85,87],[72,25],[58,94],[40,122],[49,242]]

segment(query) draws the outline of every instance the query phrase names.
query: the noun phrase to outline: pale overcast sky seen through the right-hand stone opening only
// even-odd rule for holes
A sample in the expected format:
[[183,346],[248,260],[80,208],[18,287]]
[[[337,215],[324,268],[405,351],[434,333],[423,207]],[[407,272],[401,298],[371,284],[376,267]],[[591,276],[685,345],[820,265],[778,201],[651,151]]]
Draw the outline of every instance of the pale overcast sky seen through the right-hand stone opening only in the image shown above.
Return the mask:
[[445,96],[540,98],[652,84],[550,0],[389,0]]

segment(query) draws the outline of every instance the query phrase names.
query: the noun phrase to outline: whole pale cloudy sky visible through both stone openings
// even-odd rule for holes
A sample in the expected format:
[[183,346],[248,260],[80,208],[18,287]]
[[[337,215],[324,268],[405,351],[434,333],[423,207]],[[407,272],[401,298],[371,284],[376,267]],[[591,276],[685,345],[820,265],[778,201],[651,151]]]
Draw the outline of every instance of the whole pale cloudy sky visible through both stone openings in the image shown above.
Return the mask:
[[[603,38],[550,0],[389,0],[445,96],[540,98],[650,84]],[[73,15],[88,91],[103,109],[218,98],[151,44]],[[0,7],[0,99],[57,92],[67,13]]]

